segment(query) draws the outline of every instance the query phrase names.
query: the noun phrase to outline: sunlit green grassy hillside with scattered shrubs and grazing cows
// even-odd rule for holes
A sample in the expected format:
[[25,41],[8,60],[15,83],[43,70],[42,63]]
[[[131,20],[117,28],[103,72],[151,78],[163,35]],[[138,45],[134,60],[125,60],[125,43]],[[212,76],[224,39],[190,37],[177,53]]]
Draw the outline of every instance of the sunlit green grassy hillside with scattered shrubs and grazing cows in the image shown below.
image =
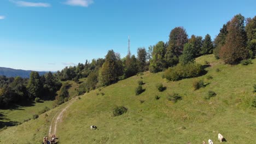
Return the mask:
[[[225,137],[225,143],[255,141],[256,109],[251,107],[251,101],[255,95],[252,91],[256,83],[256,60],[247,66],[224,65],[213,55],[196,61],[210,62],[206,75],[167,82],[161,78],[162,73],[146,72],[80,96],[57,127],[60,143],[201,143],[208,139],[219,143],[218,133]],[[206,79],[208,75],[213,79]],[[204,80],[206,87],[194,91],[192,83],[196,79]],[[145,82],[146,91],[135,95],[138,80]],[[157,91],[155,85],[159,82],[167,87],[164,92]],[[210,90],[217,95],[205,100]],[[167,96],[172,93],[181,95],[182,100],[168,101]],[[155,95],[160,99],[156,100]],[[47,133],[48,120],[64,105],[49,111],[47,118],[41,115],[1,131],[1,142],[40,141]],[[127,107],[127,113],[113,117],[116,105]],[[90,125],[98,129],[91,131]]]

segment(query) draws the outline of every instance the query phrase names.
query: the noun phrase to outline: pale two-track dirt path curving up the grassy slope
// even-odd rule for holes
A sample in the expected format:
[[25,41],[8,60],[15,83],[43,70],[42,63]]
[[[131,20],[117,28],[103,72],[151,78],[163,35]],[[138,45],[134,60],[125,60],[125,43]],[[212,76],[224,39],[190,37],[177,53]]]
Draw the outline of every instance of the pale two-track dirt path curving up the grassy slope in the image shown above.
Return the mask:
[[[63,113],[68,109],[69,106],[71,106],[74,101],[77,100],[77,98],[73,98],[71,99],[67,106],[65,106],[65,108],[61,109],[59,112],[56,113],[56,115],[53,117],[53,120],[51,120],[51,125],[50,125],[50,128],[49,128],[49,136],[51,134],[55,134],[56,135],[56,132],[57,132],[57,123],[58,122],[61,122],[61,119],[62,119],[62,116],[63,116]],[[56,117],[57,116],[57,117]]]

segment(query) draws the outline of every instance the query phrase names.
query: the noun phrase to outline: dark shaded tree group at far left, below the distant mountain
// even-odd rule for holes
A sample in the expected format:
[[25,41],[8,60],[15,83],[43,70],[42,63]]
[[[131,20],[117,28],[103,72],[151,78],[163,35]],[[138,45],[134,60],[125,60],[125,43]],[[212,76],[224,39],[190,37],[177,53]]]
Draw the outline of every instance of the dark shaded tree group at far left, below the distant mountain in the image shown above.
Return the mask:
[[37,71],[32,71],[30,79],[0,76],[0,108],[8,108],[21,101],[27,103],[36,98],[53,100],[61,85],[51,72],[39,76]]

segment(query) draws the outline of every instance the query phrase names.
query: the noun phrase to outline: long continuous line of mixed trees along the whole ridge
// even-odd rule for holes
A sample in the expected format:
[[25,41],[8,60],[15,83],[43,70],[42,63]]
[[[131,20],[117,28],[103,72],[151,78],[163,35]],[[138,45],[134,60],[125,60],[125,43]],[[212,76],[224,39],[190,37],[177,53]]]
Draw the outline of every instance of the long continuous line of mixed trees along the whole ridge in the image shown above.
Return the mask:
[[[29,80],[21,77],[15,79],[0,77],[0,104],[6,106],[8,103],[16,103],[19,99],[53,98],[53,96],[46,95],[54,95],[60,89],[60,80],[79,82],[79,79],[86,77],[86,81],[81,83],[77,89],[80,95],[97,87],[111,85],[137,73],[148,70],[151,73],[158,73],[173,68],[177,64],[178,67],[168,71],[187,70],[196,65],[198,68],[194,71],[197,71],[197,75],[201,68],[193,64],[195,58],[211,53],[226,64],[238,64],[242,60],[254,58],[256,16],[245,19],[241,14],[235,15],[220,28],[219,34],[213,41],[209,34],[206,34],[204,38],[193,34],[189,38],[183,27],[175,27],[171,30],[167,42],[159,41],[149,46],[148,49],[139,47],[137,56],[127,53],[126,57],[121,58],[119,53],[109,50],[105,58],[92,59],[91,62],[86,60],[84,64],[78,63],[74,67],[66,67],[54,75],[48,73],[45,76],[39,76],[33,71]],[[183,65],[184,68],[182,68]],[[191,76],[187,73],[173,74],[172,72],[166,76],[170,77],[170,80]],[[62,96],[56,97],[59,100],[58,104],[63,103],[68,97],[68,85],[65,84],[62,88]]]

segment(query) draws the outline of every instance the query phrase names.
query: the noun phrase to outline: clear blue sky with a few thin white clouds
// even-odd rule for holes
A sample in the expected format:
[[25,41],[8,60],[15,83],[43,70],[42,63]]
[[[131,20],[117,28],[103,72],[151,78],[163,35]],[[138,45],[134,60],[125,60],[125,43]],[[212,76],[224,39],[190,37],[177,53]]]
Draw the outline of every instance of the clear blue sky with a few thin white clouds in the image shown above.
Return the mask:
[[212,39],[241,13],[256,15],[256,1],[1,0],[0,67],[61,70],[113,49],[121,57],[167,41],[183,26],[189,35]]

